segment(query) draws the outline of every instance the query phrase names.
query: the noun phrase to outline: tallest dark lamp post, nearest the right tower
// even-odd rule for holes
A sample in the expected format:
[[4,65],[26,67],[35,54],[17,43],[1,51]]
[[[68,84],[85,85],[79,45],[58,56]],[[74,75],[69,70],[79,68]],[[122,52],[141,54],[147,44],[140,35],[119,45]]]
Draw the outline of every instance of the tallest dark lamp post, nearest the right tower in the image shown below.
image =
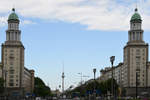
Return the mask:
[[113,83],[113,64],[114,64],[114,61],[115,61],[115,56],[111,56],[110,57],[110,62],[111,62],[111,66],[112,66],[112,79],[111,79],[111,91],[112,91],[112,97],[114,99],[114,83]]

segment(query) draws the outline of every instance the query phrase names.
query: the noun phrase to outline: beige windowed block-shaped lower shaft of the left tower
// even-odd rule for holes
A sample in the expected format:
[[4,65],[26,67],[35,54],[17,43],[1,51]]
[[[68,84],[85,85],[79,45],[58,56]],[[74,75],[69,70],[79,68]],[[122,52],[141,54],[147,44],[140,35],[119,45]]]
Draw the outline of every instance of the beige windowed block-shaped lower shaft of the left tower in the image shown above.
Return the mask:
[[6,87],[23,87],[24,47],[21,42],[6,41],[2,44],[3,71],[7,73]]

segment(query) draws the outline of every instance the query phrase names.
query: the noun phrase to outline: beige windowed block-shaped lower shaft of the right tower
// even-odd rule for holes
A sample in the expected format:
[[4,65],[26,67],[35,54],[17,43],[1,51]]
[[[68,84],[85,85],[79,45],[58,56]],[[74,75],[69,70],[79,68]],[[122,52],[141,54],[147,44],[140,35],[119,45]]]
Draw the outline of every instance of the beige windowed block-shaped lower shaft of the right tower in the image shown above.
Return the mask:
[[[125,47],[124,67],[127,82],[125,87],[136,87],[136,77],[139,87],[147,86],[147,62],[148,62],[148,45],[147,44],[128,44]],[[136,73],[138,76],[136,76]]]

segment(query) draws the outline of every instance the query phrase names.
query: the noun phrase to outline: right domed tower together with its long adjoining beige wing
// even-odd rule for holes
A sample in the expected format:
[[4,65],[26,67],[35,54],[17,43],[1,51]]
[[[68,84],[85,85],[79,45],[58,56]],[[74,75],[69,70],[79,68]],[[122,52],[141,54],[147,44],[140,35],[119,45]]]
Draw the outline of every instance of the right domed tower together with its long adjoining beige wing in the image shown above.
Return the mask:
[[[113,69],[114,79],[126,89],[129,96],[141,95],[142,92],[150,92],[150,62],[148,59],[148,43],[143,39],[142,18],[135,9],[130,20],[128,42],[124,47],[123,63]],[[101,70],[100,80],[112,77],[112,68]]]

